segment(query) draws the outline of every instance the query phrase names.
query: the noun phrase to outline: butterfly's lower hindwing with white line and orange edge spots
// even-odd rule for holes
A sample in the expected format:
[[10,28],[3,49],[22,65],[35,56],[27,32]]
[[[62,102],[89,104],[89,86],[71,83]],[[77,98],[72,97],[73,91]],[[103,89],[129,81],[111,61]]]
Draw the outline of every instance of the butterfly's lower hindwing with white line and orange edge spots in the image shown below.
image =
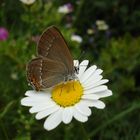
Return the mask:
[[43,90],[65,80],[63,63],[44,57],[32,59],[27,65],[27,79],[34,89]]

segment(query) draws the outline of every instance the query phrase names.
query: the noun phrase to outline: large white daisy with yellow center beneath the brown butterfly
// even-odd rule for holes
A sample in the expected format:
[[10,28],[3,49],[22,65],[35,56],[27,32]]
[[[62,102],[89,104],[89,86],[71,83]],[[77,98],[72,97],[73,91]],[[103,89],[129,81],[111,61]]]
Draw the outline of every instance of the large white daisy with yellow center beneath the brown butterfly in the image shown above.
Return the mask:
[[87,68],[89,61],[80,63],[75,60],[74,65],[79,65],[77,81],[59,84],[48,91],[29,90],[27,97],[21,104],[31,107],[29,112],[36,113],[37,120],[46,118],[44,128],[52,130],[61,122],[68,124],[75,118],[77,121],[86,122],[91,115],[90,107],[103,109],[105,104],[100,98],[112,95],[104,84],[107,79],[102,79],[102,70],[93,65]]

